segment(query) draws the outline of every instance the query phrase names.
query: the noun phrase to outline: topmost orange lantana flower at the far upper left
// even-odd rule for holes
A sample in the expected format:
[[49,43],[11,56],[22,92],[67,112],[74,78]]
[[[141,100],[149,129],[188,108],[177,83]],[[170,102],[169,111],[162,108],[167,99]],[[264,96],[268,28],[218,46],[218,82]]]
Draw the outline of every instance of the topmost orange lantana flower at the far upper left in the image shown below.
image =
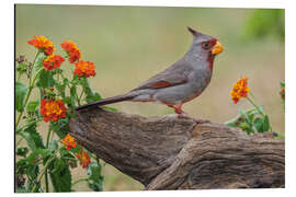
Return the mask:
[[45,36],[33,36],[33,37],[34,39],[27,42],[30,45],[33,45],[35,48],[38,48],[46,55],[52,55],[55,51],[54,44]]

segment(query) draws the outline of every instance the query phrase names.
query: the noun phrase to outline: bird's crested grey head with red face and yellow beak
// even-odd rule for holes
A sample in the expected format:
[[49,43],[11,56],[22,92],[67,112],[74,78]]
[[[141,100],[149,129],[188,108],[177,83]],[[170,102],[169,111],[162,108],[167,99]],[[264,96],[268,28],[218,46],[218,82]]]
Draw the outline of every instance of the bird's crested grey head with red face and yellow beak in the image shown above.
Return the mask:
[[187,27],[187,30],[193,35],[193,44],[189,53],[213,63],[215,56],[224,50],[221,44],[215,37],[202,34],[192,27]]

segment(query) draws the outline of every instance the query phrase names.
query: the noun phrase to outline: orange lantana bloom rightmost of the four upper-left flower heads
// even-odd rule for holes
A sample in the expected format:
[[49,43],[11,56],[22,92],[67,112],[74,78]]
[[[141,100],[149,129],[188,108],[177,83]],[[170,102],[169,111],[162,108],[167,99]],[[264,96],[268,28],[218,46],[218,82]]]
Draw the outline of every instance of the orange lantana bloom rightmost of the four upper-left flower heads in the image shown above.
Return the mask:
[[77,63],[75,63],[76,69],[73,71],[75,76],[79,76],[79,77],[90,77],[90,76],[95,76],[95,66],[93,65],[93,62],[90,61],[79,61]]

